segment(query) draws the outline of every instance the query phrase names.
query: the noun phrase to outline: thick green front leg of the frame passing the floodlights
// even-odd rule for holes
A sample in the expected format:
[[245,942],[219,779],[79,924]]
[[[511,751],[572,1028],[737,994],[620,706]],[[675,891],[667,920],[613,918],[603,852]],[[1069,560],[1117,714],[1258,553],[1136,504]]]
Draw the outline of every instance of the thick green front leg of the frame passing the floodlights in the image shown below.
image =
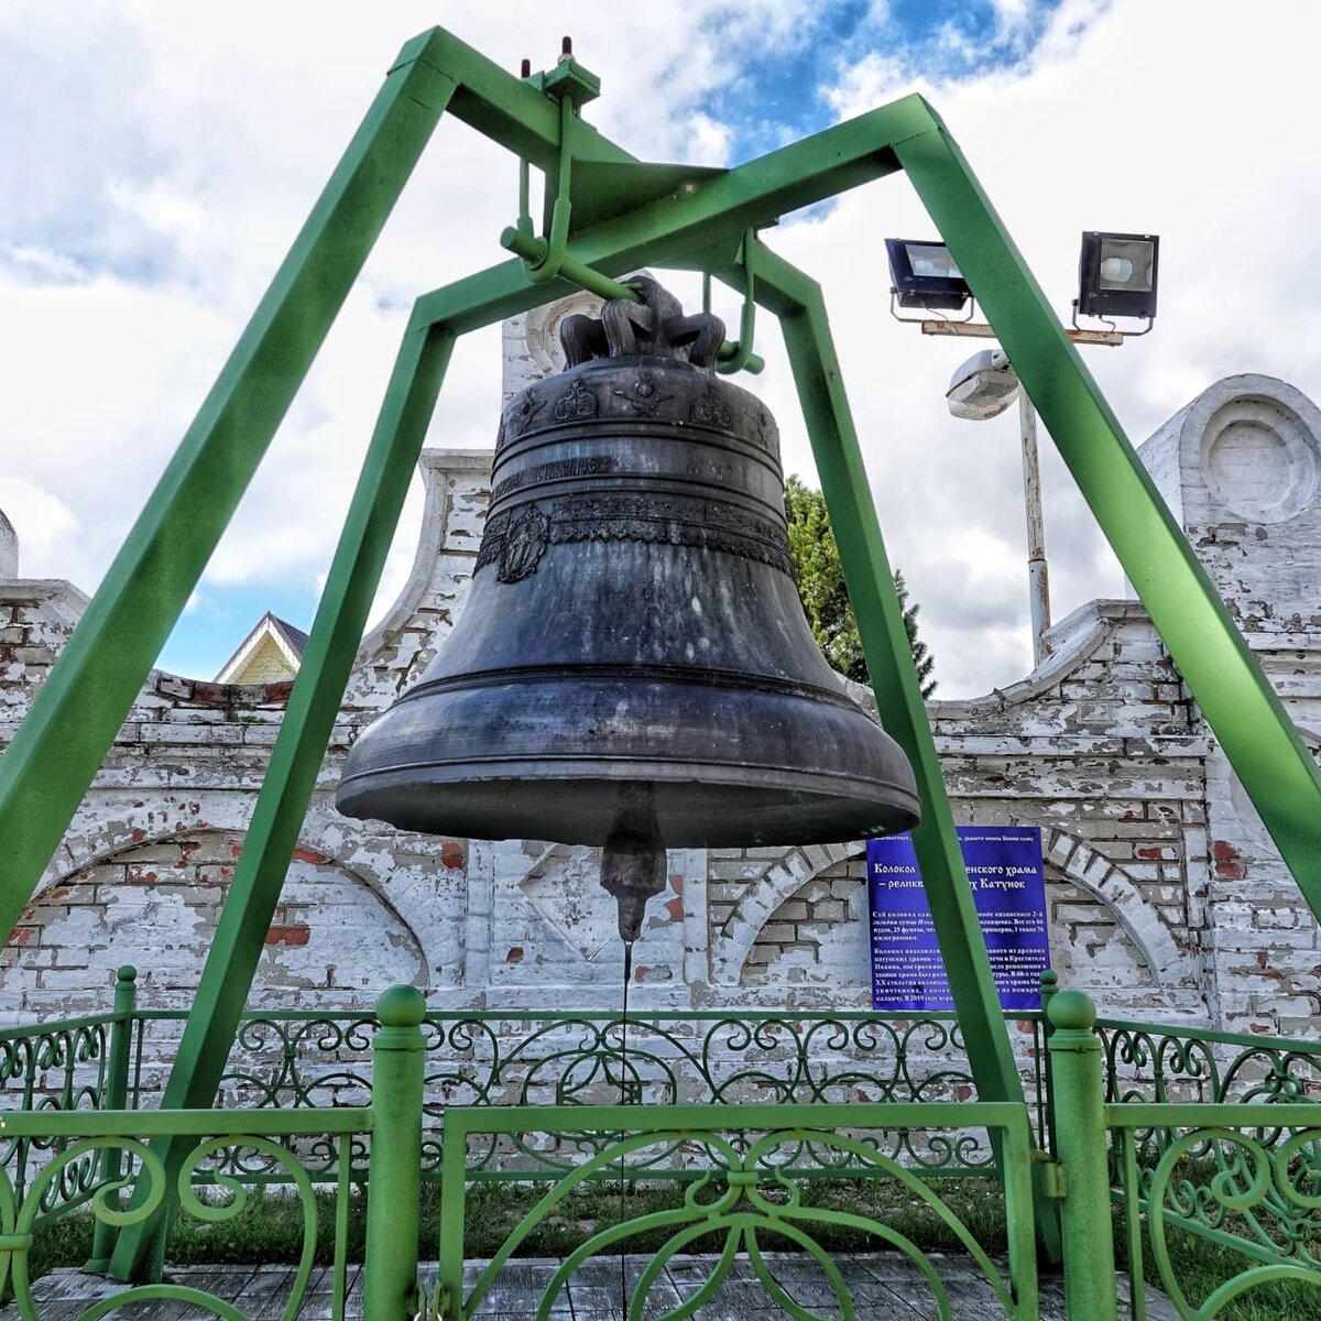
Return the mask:
[[1321,773],[1026,263],[930,108],[897,144],[1078,489],[1321,921]]

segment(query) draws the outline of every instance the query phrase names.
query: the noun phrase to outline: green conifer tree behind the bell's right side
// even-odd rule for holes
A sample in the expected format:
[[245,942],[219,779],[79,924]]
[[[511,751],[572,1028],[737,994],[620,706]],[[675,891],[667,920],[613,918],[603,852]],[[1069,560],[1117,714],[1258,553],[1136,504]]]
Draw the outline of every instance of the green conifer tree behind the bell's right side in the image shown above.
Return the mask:
[[[826,659],[840,674],[859,683],[867,683],[867,659],[863,639],[857,633],[853,606],[844,584],[844,567],[839,560],[839,547],[826,511],[826,497],[797,477],[785,483],[785,515],[789,519],[789,557],[794,569],[794,583],[802,598],[812,637]],[[935,657],[917,635],[917,614],[921,606],[909,602],[908,584],[902,572],[894,575],[894,590],[904,609],[904,630],[908,633],[913,664],[922,684],[922,696],[935,692]]]

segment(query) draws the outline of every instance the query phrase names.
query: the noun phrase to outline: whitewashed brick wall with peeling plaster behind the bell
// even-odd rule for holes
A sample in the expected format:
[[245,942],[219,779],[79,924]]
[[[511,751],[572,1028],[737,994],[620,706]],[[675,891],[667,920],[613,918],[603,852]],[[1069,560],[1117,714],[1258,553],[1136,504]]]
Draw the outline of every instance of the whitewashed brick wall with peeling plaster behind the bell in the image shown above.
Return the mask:
[[[507,362],[544,370],[515,330],[506,328]],[[1207,420],[1202,431],[1198,419]],[[1321,728],[1321,510],[1305,485],[1318,419],[1280,382],[1231,378],[1144,446],[1248,625],[1250,645],[1309,729]],[[1229,436],[1206,441],[1203,453],[1211,423]],[[1272,439],[1280,428],[1288,435]],[[1219,458],[1217,445],[1229,446]],[[1243,510],[1221,505],[1217,491],[1226,493],[1225,472],[1256,452],[1279,462],[1268,465],[1276,486],[1252,494],[1263,520],[1251,524]],[[369,984],[403,978],[425,987],[440,1008],[618,1007],[618,950],[593,889],[592,851],[433,839],[346,820],[333,807],[351,740],[415,682],[458,618],[490,494],[489,462],[487,452],[423,456],[428,519],[413,571],[359,651],[301,835],[300,848],[329,861],[296,863],[312,872],[291,882],[284,915],[293,919],[283,923],[291,930],[263,955],[268,980],[255,1000],[310,996],[333,967],[337,1003],[346,1005],[366,1007]],[[1276,487],[1284,494],[1272,495]],[[0,740],[16,728],[86,604],[65,583],[0,581]],[[956,819],[1042,826],[1055,955],[1069,980],[1096,993],[1103,1008],[1239,1030],[1310,1028],[1321,980],[1316,922],[1143,608],[1091,602],[1057,625],[1050,642],[1049,660],[1021,683],[930,705]],[[205,947],[177,933],[209,911],[214,886],[197,882],[193,893],[176,877],[156,896],[159,927],[115,919],[112,905],[94,897],[98,882],[91,902],[57,893],[98,868],[120,868],[127,877],[141,849],[173,849],[182,867],[186,845],[238,840],[288,694],[287,683],[227,687],[152,674],[48,869],[26,934],[4,955],[0,1015],[103,1004],[114,967],[160,964],[166,951],[152,947],[153,933],[161,942],[176,933],[168,935],[172,980],[156,979],[153,996],[189,1003]],[[324,867],[336,880],[313,884]],[[865,996],[856,843],[709,856],[688,849],[670,855],[670,889],[649,909],[637,951],[633,1004],[641,1011],[856,1007]],[[87,898],[86,882],[77,884]],[[320,904],[329,892],[317,885],[325,884],[354,896],[363,922],[375,923],[374,939],[363,942],[362,922],[330,921],[332,911],[347,909],[339,900]],[[129,893],[127,880],[119,886]],[[129,906],[145,904],[148,889],[133,889]],[[310,896],[312,911],[324,909],[320,927],[299,909],[300,893]],[[66,911],[73,909],[79,911]],[[777,939],[789,934],[785,927],[793,938]],[[304,929],[310,934],[300,943]],[[78,951],[83,962],[73,958]],[[306,962],[309,951],[320,972]],[[362,971],[350,978],[346,970]]]

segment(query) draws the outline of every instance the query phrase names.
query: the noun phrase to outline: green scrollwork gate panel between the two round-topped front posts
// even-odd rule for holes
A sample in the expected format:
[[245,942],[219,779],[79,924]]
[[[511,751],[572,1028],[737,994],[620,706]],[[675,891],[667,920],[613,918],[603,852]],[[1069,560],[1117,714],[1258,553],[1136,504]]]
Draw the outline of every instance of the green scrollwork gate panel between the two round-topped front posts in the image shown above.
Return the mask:
[[[888,1155],[893,1143],[882,1136],[918,1127],[956,1133],[970,1125],[982,1128],[983,1141],[987,1141],[988,1132],[995,1132],[1004,1153],[1008,1272],[991,1260],[976,1235],[917,1172]],[[540,1139],[567,1151],[584,1132],[594,1136],[585,1144],[581,1157],[565,1164],[561,1176],[465,1289],[462,1226],[466,1188],[480,1178],[490,1149],[503,1144],[522,1148]],[[732,1277],[740,1254],[745,1256],[740,1289],[760,1287],[790,1316],[815,1316],[816,1312],[795,1296],[799,1283],[778,1276],[777,1263],[768,1247],[789,1247],[814,1263],[819,1280],[811,1287],[819,1291],[824,1285],[831,1308],[848,1317],[853,1314],[848,1281],[831,1252],[819,1242],[823,1231],[836,1227],[861,1232],[878,1247],[902,1252],[926,1281],[935,1314],[948,1321],[952,1310],[941,1279],[941,1255],[923,1252],[905,1234],[875,1217],[807,1205],[802,1188],[786,1173],[803,1147],[838,1152],[836,1164],[867,1169],[872,1177],[902,1185],[925,1203],[972,1258],[1004,1316],[1013,1321],[1034,1321],[1037,1277],[1028,1115],[1021,1106],[950,1103],[613,1106],[584,1107],[577,1114],[564,1110],[547,1112],[534,1107],[454,1108],[446,1116],[443,1139],[439,1314],[444,1321],[461,1321],[481,1312],[520,1243],[540,1222],[556,1215],[565,1198],[580,1185],[602,1176],[617,1177],[621,1168],[654,1168],[694,1152],[700,1153],[703,1172],[687,1188],[682,1206],[583,1230],[583,1240],[564,1254],[542,1291],[535,1310],[539,1321],[551,1316],[557,1301],[563,1303],[561,1291],[580,1266],[601,1254],[626,1251],[631,1240],[657,1232],[666,1235],[664,1242],[651,1252],[641,1275],[631,1283],[627,1300],[630,1317],[688,1316]],[[683,1300],[678,1308],[653,1297],[666,1264],[676,1254],[712,1239],[717,1242],[715,1251],[719,1256],[695,1296]]]

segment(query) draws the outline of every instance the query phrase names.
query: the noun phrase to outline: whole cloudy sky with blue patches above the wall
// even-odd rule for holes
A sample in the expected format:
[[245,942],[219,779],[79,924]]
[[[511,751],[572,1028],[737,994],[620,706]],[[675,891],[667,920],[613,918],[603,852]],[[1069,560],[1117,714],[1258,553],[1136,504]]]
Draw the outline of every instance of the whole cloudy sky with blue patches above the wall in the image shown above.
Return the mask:
[[[1082,230],[1161,235],[1155,333],[1089,351],[1135,443],[1231,373],[1321,396],[1308,0],[0,0],[0,509],[24,576],[96,587],[396,50],[436,22],[511,70],[548,66],[572,33],[604,83],[588,118],[651,160],[738,164],[922,91],[1063,318]],[[309,626],[408,306],[503,258],[515,184],[509,157],[441,123],[166,668],[210,678],[266,609]],[[939,695],[975,695],[1030,667],[1017,429],[947,416],[975,346],[889,318],[886,235],[934,236],[901,176],[766,239],[826,288]],[[773,324],[758,350],[748,383],[786,468],[815,480]],[[428,444],[490,446],[498,375],[495,332],[465,339]],[[1046,449],[1058,620],[1123,584]],[[413,499],[382,604],[419,515]]]

